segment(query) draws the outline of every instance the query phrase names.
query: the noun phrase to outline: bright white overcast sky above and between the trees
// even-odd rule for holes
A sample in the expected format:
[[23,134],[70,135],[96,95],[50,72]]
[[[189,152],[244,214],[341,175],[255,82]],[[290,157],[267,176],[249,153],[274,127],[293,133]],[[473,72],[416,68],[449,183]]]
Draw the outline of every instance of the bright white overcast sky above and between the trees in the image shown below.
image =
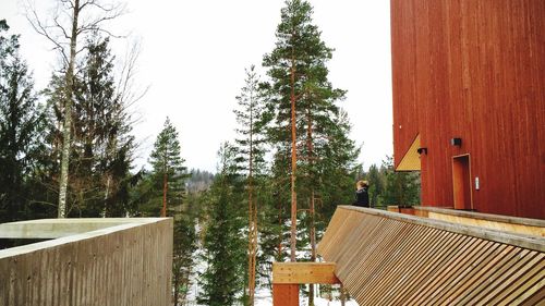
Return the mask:
[[[45,2],[39,0],[37,2]],[[47,0],[52,2],[51,0]],[[1,0],[0,19],[11,34],[22,34],[22,54],[43,89],[56,66],[51,45],[33,32],[21,1]],[[170,117],[180,133],[187,168],[215,171],[216,152],[234,137],[234,97],[244,85],[244,69],[261,68],[272,50],[283,0],[130,0],[129,13],[109,29],[142,38],[138,83],[149,84],[138,103],[142,122],[134,134],[145,163],[155,137]],[[367,169],[392,154],[389,1],[311,0],[322,39],[336,49],[329,79],[348,95],[340,106],[353,125]],[[118,57],[126,41],[116,41]]]

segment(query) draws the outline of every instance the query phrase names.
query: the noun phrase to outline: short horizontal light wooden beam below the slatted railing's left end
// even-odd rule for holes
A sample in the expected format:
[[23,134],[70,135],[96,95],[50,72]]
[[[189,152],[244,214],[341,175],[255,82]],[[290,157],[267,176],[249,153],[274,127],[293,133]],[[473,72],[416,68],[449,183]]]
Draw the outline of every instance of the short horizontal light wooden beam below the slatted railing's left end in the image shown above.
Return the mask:
[[338,284],[335,262],[272,262],[274,284]]

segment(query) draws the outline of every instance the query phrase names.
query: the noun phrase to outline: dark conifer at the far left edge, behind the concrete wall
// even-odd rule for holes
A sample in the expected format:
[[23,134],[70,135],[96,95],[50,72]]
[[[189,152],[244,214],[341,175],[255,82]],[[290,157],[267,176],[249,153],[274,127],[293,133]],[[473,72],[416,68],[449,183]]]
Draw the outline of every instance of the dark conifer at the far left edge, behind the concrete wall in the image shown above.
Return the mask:
[[43,128],[34,82],[19,54],[19,36],[0,20],[0,223],[33,217],[29,205],[44,166]]

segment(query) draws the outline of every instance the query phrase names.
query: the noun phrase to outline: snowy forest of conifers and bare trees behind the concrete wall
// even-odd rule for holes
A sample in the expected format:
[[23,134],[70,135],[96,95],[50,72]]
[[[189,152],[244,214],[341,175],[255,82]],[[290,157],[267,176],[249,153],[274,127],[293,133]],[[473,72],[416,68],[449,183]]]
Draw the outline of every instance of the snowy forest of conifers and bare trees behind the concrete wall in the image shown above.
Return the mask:
[[[138,168],[131,106],[146,93],[132,86],[137,52],[113,53],[101,25],[122,5],[99,3],[63,1],[71,17],[52,28],[43,20],[56,16],[27,11],[60,59],[46,88],[35,88],[20,36],[0,20],[0,223],[171,217],[174,305],[255,305],[274,261],[319,260],[316,245],[336,207],[354,201],[359,180],[371,182],[377,209],[420,201],[419,176],[395,172],[391,156],[366,170],[359,162],[347,90],[328,78],[334,49],[304,0],[284,2],[276,33],[264,34],[274,49],[226,97],[238,101],[237,137],[218,147],[217,171],[186,164],[191,144],[169,118]],[[302,290],[314,305],[314,286]]]

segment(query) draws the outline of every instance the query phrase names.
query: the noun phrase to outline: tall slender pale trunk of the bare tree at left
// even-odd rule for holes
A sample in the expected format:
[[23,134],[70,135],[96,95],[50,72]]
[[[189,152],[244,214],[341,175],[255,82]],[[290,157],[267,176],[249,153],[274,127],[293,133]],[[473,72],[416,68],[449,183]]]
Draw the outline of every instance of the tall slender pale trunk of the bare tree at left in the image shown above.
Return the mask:
[[77,19],[80,15],[80,0],[74,1],[72,17],[72,36],[70,38],[70,61],[65,74],[65,101],[64,101],[64,124],[62,126],[62,158],[61,178],[59,180],[59,210],[58,218],[66,217],[66,191],[69,181],[70,163],[70,136],[72,128],[72,97],[74,88],[74,62],[77,42]]

